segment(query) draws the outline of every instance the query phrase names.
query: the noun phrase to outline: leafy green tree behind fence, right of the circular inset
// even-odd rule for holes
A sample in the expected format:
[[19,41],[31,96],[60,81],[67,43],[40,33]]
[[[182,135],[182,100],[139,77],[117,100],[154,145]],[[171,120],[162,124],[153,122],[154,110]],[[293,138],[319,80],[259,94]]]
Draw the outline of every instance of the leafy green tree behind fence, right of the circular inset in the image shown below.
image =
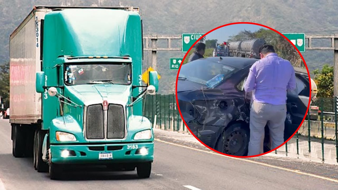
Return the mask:
[[332,98],[333,97],[333,66],[325,64],[321,70],[313,71],[314,80],[318,88],[318,97]]

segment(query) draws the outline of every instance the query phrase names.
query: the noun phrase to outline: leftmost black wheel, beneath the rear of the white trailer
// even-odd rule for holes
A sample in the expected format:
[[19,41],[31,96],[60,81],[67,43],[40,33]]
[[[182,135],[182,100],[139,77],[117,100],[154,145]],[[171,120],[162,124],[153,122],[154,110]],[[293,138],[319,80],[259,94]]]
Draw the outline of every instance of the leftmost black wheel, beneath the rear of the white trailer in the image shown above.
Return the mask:
[[19,124],[12,125],[13,140],[12,140],[12,154],[15,158],[22,158],[25,156],[25,134]]

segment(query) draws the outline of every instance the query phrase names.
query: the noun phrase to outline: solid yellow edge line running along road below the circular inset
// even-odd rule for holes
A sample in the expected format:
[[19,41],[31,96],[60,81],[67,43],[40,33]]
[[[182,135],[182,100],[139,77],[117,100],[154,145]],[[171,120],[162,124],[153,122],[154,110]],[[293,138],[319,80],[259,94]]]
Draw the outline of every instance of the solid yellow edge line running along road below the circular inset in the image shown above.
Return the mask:
[[293,169],[283,168],[283,167],[280,167],[280,166],[274,166],[274,165],[270,165],[270,164],[256,162],[256,161],[253,161],[253,160],[246,160],[246,159],[242,159],[242,158],[225,156],[225,155],[221,155],[220,153],[216,153],[214,151],[200,150],[200,149],[197,149],[197,148],[192,148],[192,147],[189,147],[189,146],[184,146],[184,145],[180,145],[180,144],[176,144],[176,143],[171,143],[171,142],[163,141],[163,140],[160,140],[160,139],[155,139],[155,140],[159,141],[159,142],[175,145],[175,146],[180,146],[180,147],[183,147],[183,148],[188,148],[188,149],[191,149],[191,150],[205,152],[205,153],[212,154],[212,155],[217,155],[217,156],[221,156],[221,157],[225,157],[225,158],[230,158],[230,159],[234,159],[234,160],[241,160],[243,162],[250,162],[250,163],[254,163],[254,164],[259,164],[259,165],[267,166],[267,167],[270,167],[270,168],[276,168],[276,169],[285,170],[285,171],[289,171],[289,172],[293,172],[293,173],[308,175],[308,176],[316,177],[316,178],[319,178],[319,179],[322,179],[322,180],[328,180],[328,181],[331,181],[331,182],[338,183],[338,180],[335,180],[335,179],[332,179],[332,178],[329,178],[329,177],[323,177],[323,176],[320,176],[320,175],[315,175],[315,174],[312,174],[312,173],[301,172],[301,171],[297,171],[297,170],[293,170]]

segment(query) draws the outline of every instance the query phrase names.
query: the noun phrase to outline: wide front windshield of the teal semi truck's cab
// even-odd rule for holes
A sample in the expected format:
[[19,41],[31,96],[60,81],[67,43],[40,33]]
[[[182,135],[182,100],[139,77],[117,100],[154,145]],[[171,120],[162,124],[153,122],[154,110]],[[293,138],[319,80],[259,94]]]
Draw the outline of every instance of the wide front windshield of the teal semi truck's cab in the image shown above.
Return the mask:
[[131,84],[131,63],[66,64],[65,84]]

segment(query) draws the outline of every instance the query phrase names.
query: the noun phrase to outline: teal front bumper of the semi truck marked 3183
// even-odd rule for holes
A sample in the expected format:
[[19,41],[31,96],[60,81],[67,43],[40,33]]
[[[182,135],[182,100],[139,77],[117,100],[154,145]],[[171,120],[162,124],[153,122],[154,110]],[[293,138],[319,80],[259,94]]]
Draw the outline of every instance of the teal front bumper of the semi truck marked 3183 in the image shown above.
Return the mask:
[[[98,148],[94,147],[100,148],[104,147],[104,149],[98,150]],[[148,154],[147,155],[136,154],[136,151],[143,147],[147,148]],[[75,156],[68,156],[64,158],[61,156],[61,152],[63,150],[71,151],[73,154],[75,153]],[[125,144],[95,144],[95,145],[94,144],[50,145],[50,151],[52,156],[52,163],[55,164],[115,164],[115,163],[139,163],[149,161],[152,162],[154,160],[153,142],[125,143]],[[100,152],[112,152],[113,159],[99,160]]]

